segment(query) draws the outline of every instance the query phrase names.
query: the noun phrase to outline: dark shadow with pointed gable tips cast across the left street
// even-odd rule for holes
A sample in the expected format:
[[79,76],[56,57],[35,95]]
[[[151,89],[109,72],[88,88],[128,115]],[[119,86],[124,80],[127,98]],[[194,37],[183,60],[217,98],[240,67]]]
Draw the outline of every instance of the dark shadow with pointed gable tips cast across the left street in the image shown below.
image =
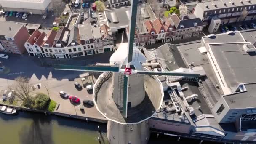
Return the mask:
[[48,78],[51,76],[56,80],[68,79],[69,81],[73,81],[84,72],[54,70],[53,67],[43,67],[43,64],[53,66],[54,64],[90,65],[96,62],[109,63],[112,53],[113,51],[91,56],[81,56],[74,59],[38,58],[37,56],[6,53],[9,59],[1,59],[0,61],[5,67],[10,68],[10,72],[8,74],[0,74],[0,78],[14,80],[18,76],[31,78],[35,75],[39,80],[42,77]]

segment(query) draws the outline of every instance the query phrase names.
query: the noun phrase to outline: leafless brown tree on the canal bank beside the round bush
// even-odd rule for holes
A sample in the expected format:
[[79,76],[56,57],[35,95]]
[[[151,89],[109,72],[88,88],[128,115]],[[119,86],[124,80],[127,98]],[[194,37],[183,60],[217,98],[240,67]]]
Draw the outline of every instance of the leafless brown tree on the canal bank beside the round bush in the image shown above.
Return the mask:
[[17,77],[15,83],[9,87],[10,90],[14,90],[16,96],[20,101],[23,102],[25,107],[32,108],[33,98],[31,94],[31,85],[29,83],[29,78],[27,77]]

